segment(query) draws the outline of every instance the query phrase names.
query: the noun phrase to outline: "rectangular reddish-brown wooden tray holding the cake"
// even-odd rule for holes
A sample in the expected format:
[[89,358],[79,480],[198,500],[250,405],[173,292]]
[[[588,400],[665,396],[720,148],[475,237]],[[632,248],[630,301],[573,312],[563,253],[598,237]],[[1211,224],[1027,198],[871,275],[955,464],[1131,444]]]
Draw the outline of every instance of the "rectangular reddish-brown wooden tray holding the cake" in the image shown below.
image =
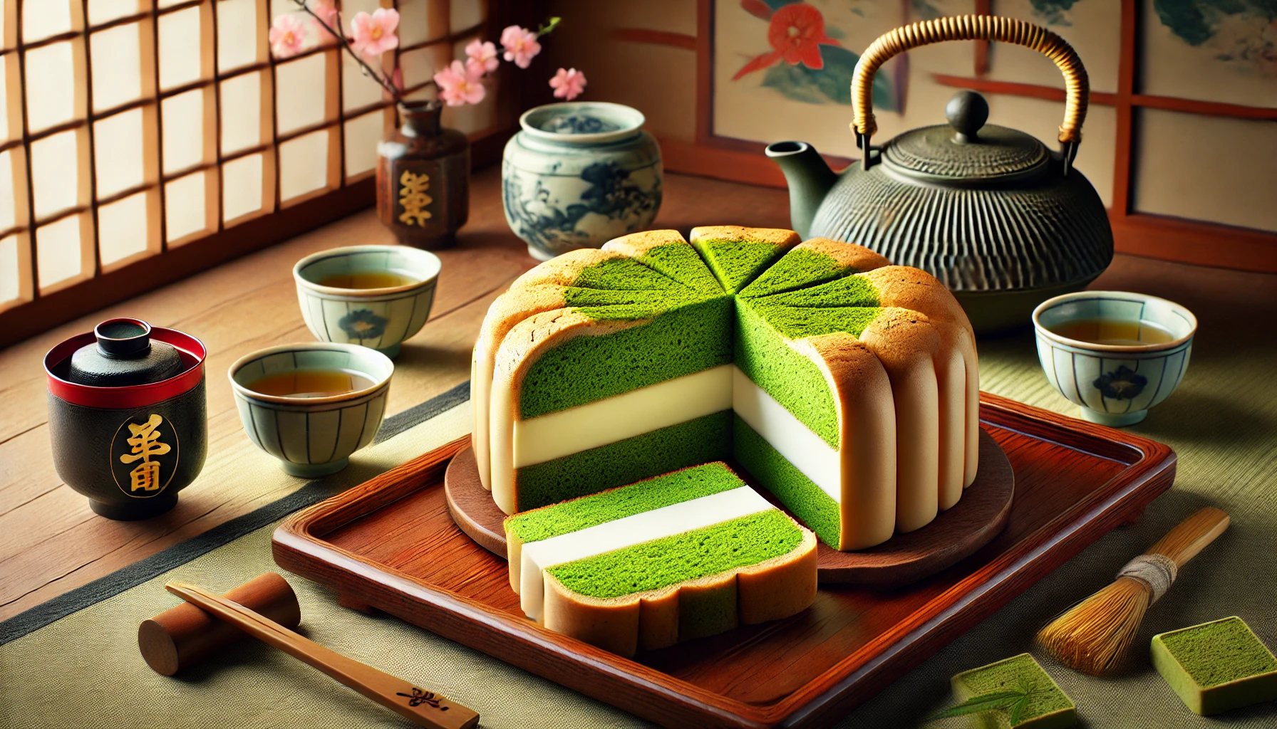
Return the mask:
[[[1161,443],[981,393],[1015,470],[1006,527],[948,569],[881,591],[822,586],[792,618],[640,654],[599,650],[526,619],[503,559],[448,516],[457,439],[292,516],[285,569],[665,726],[824,726],[1023,592],[1171,486]],[[1080,597],[1080,595],[1078,595]]]

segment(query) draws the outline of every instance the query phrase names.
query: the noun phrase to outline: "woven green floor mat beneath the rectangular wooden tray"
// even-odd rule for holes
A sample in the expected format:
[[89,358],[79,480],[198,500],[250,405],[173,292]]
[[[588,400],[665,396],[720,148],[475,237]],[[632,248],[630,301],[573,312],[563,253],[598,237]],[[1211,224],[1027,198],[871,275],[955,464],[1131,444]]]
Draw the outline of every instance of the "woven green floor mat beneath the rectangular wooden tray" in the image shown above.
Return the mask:
[[[1205,324],[1205,323],[1203,323]],[[843,728],[899,728],[951,702],[949,677],[1025,650],[1033,633],[1069,604],[1112,581],[1197,508],[1212,504],[1232,527],[1180,573],[1152,608],[1137,638],[1147,651],[1156,632],[1225,615],[1241,615],[1277,646],[1277,343],[1240,347],[1203,326],[1180,391],[1131,430],[1179,453],[1175,488],[1137,525],[1119,529],[1047,576],[1002,610],[941,649],[919,668],[847,716]],[[1031,405],[1074,415],[1037,365],[1032,336],[981,342],[982,387]],[[370,449],[386,467],[442,444],[469,428],[458,406]],[[0,646],[3,726],[406,726],[318,672],[283,654],[244,642],[176,678],[157,675],[137,650],[138,623],[175,604],[162,585],[186,580],[226,590],[277,569],[269,540],[275,523],[80,609]],[[395,675],[434,687],[474,707],[484,726],[644,726],[495,659],[395,618],[337,605],[335,595],[287,575],[310,638]],[[1034,651],[1036,652],[1036,651]],[[1190,714],[1148,665],[1116,679],[1094,679],[1039,661],[1073,697],[1084,726],[1277,726],[1277,706],[1263,705],[1203,719]],[[935,726],[958,726],[949,720]]]

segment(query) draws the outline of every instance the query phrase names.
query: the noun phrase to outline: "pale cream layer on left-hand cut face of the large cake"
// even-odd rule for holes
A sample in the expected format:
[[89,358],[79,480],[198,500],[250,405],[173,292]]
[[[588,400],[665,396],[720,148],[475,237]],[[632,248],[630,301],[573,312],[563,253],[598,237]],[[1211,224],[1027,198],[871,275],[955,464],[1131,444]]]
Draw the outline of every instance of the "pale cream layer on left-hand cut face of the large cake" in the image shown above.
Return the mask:
[[687,374],[568,410],[515,420],[515,467],[544,463],[732,407],[736,365]]

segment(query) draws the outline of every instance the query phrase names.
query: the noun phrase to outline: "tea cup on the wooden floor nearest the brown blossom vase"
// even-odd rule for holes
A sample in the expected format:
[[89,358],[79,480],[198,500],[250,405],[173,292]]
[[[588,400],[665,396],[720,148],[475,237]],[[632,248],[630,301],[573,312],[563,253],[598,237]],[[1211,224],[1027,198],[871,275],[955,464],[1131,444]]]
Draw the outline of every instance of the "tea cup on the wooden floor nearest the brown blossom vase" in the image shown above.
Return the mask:
[[361,345],[386,356],[421,331],[434,304],[439,258],[404,245],[351,245],[292,267],[301,317],[317,340]]

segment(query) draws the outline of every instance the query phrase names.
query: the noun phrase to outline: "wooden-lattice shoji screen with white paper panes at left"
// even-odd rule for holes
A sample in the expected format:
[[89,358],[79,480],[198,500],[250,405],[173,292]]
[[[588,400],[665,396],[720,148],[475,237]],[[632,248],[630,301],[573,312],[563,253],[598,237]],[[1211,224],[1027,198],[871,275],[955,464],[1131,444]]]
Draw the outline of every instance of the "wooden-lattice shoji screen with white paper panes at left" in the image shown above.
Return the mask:
[[[289,211],[317,198],[328,211],[372,202],[392,102],[331,40],[273,59],[271,20],[290,0],[0,3],[0,320],[65,319],[88,310],[70,301],[77,287],[102,295],[94,280],[138,292],[157,258],[189,273],[229,258],[218,249],[232,240],[295,235],[317,222]],[[344,0],[342,18],[378,6],[401,14],[414,98],[472,37],[494,37],[485,0]],[[446,124],[472,139],[508,126],[492,91]]]

